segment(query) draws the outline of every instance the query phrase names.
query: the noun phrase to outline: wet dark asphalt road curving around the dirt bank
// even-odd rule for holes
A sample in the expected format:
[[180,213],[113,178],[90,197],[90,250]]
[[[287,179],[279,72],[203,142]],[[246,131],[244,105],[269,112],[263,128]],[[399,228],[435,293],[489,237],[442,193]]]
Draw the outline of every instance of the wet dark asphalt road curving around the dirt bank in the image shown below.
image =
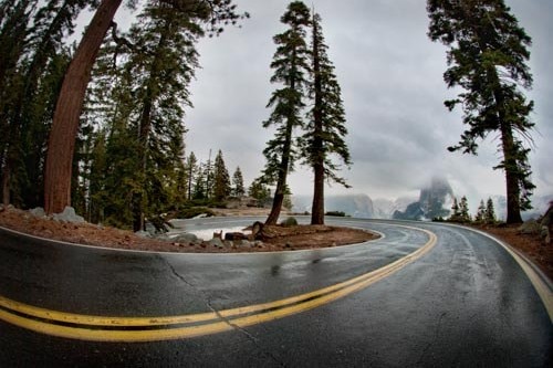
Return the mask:
[[[253,220],[195,220],[187,227],[217,230]],[[167,254],[73,246],[0,229],[0,367],[551,366],[553,328],[544,303],[495,241],[435,223],[328,222],[385,236],[317,251]],[[432,245],[431,234],[414,228],[436,234],[436,245],[367,287],[246,327],[221,315],[326,290]],[[108,317],[211,314],[228,330],[156,341],[90,341],[6,322],[30,320],[20,305]],[[30,324],[49,325],[49,316]]]

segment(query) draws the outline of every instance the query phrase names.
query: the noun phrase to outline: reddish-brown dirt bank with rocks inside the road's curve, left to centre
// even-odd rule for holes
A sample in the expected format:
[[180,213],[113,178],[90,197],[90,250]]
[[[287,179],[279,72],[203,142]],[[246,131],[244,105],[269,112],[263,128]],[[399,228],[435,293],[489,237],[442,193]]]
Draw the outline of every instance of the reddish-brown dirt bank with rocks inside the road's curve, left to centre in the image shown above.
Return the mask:
[[[260,239],[244,241],[184,242],[142,238],[131,231],[91,223],[71,223],[35,217],[28,211],[7,208],[0,210],[0,225],[35,236],[55,239],[71,243],[115,249],[182,252],[182,253],[232,253],[268,252],[327,248],[359,243],[376,239],[367,231],[325,225],[264,227]],[[223,234],[225,236],[225,234]]]

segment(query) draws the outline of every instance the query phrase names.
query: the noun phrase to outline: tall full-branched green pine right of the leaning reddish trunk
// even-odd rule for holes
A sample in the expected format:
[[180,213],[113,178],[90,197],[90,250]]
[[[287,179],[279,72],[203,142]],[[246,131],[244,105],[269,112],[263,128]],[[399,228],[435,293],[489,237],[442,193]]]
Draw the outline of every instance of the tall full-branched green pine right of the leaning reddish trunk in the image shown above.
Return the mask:
[[196,21],[194,14],[149,1],[131,29],[131,42],[139,45],[125,65],[129,93],[137,99],[129,122],[138,133],[135,231],[169,199],[164,181],[175,180],[182,161],[184,107],[190,106],[189,83],[198,66],[195,43],[202,35]]

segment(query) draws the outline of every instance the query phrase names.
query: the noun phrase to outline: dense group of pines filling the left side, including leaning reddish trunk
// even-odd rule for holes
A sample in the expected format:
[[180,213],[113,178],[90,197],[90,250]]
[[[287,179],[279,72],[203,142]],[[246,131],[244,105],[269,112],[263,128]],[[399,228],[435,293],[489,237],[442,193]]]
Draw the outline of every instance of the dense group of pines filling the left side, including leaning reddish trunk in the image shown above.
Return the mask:
[[[139,230],[146,218],[178,210],[191,198],[243,193],[243,179],[241,189],[230,187],[222,154],[201,169],[207,179],[196,164],[185,161],[184,119],[185,108],[191,107],[198,40],[248,14],[237,14],[230,0],[145,0],[131,29],[121,33],[113,22],[121,3],[0,3],[3,203],[45,203],[51,211],[65,202],[92,222]],[[96,14],[79,48],[69,45],[76,18],[87,7]],[[70,168],[60,177],[67,154]],[[194,187],[190,170],[198,171]],[[236,176],[239,180],[241,174]],[[71,193],[64,194],[65,182]],[[54,200],[45,198],[51,190]]]

